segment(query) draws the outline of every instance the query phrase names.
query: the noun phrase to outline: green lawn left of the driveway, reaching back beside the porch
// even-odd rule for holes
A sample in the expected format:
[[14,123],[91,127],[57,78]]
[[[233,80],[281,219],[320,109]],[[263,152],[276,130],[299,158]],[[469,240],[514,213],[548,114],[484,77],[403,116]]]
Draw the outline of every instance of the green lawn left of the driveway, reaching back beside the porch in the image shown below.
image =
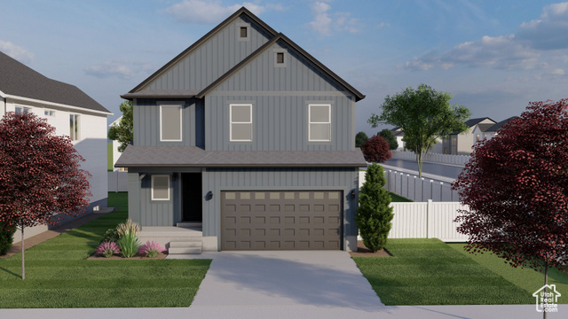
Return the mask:
[[210,260],[87,261],[109,228],[126,220],[127,193],[109,193],[113,213],[0,260],[0,307],[189,307]]

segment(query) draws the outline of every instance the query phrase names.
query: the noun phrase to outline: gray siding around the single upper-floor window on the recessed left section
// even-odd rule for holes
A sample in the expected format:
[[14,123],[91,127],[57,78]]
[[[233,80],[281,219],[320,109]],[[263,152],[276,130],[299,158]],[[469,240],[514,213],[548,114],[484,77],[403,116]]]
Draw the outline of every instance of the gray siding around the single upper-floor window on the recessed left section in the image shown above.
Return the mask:
[[134,145],[137,146],[198,146],[204,147],[204,110],[202,100],[183,101],[182,141],[160,141],[160,105],[164,99],[137,99],[134,105]]

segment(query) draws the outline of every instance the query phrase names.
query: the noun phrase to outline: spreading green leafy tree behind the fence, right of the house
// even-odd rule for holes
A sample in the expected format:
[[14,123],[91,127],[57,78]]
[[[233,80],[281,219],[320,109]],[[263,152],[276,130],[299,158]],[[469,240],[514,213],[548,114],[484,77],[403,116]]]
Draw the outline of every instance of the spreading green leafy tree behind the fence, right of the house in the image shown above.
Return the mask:
[[384,98],[383,112],[373,114],[368,123],[376,128],[387,123],[402,128],[406,149],[416,154],[418,174],[422,177],[424,155],[436,138],[449,138],[453,132],[466,132],[465,121],[469,109],[463,105],[450,105],[452,96],[438,92],[425,84],[418,89],[407,88],[393,97]]

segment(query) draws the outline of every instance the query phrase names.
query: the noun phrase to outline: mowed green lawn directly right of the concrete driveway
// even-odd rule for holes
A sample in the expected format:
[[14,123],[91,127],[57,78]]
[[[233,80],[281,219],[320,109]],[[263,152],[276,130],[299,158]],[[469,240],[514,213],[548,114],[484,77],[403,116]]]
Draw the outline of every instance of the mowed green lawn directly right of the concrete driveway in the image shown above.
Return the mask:
[[392,257],[353,257],[385,305],[534,303],[532,293],[438,239],[389,239]]

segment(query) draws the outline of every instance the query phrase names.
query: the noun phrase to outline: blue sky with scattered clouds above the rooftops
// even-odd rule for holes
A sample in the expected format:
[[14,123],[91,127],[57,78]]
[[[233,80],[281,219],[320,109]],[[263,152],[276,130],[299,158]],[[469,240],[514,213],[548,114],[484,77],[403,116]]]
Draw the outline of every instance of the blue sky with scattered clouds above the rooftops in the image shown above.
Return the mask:
[[[367,97],[426,83],[501,121],[568,97],[568,3],[534,0],[5,1],[0,51],[121,115],[128,92],[246,6]],[[1,72],[1,70],[0,70]]]

